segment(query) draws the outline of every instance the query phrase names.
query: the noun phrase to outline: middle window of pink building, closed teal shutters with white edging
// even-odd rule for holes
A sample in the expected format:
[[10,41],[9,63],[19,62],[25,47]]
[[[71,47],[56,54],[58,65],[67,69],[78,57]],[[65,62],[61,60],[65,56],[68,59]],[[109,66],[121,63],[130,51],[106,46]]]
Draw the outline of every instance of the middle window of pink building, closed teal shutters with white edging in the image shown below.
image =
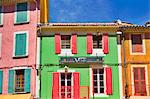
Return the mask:
[[27,32],[15,33],[14,57],[27,56],[28,54]]

